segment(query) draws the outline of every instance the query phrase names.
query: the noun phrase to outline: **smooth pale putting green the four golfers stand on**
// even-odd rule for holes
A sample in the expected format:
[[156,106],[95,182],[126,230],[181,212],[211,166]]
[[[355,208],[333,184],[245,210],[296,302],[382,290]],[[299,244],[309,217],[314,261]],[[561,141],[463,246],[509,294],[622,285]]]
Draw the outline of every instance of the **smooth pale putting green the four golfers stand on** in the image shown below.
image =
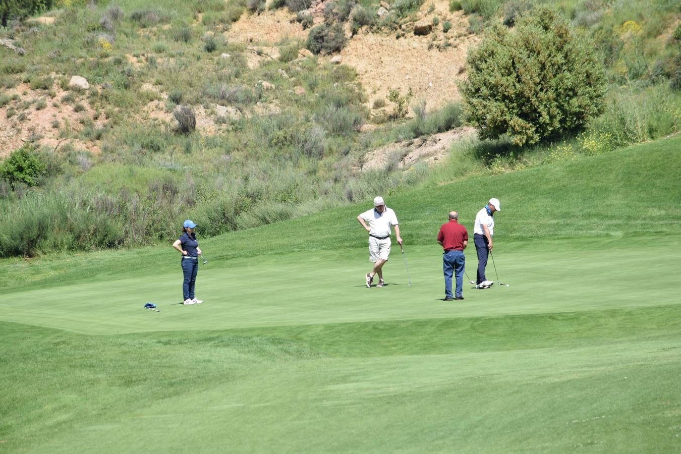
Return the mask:
[[[234,329],[317,323],[439,319],[538,314],[676,304],[669,282],[681,255],[681,237],[636,240],[568,240],[538,244],[499,243],[495,263],[509,287],[472,290],[464,301],[443,302],[441,249],[407,247],[412,286],[394,250],[385,265],[388,285],[366,289],[366,250],[298,253],[213,261],[200,268],[197,297],[182,306],[176,272],[108,282],[87,282],[13,293],[0,320],[86,334]],[[475,277],[475,249],[467,250]],[[488,278],[496,280],[492,261]],[[465,280],[464,276],[464,282]],[[146,302],[160,313],[143,310]]]

